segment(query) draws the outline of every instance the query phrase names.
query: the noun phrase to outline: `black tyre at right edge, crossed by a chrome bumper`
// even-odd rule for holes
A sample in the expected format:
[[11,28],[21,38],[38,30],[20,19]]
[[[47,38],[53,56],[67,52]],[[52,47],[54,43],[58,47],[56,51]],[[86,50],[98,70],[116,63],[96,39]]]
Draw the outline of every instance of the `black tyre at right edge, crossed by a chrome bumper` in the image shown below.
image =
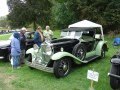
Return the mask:
[[[115,66],[112,65],[110,73],[118,75],[119,70]],[[119,88],[119,84],[120,84],[120,80],[119,79],[110,76],[110,86],[111,86],[112,89],[118,89]]]

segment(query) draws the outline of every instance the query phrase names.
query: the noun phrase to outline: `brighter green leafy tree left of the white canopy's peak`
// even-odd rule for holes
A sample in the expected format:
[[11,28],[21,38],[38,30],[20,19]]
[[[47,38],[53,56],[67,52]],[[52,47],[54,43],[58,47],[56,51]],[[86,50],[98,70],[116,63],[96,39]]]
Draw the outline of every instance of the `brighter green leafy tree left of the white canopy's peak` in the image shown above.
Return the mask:
[[66,28],[75,21],[74,12],[69,9],[70,2],[53,2],[51,25],[57,28]]

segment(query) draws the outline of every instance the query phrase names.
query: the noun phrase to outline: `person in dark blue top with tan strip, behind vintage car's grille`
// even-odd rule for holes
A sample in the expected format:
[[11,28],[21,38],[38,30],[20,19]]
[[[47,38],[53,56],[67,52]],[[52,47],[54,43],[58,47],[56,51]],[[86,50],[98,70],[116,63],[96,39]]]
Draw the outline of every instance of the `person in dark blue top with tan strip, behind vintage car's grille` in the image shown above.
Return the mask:
[[44,41],[44,36],[43,36],[42,28],[41,26],[38,26],[38,28],[34,33],[34,43],[40,47],[43,41]]

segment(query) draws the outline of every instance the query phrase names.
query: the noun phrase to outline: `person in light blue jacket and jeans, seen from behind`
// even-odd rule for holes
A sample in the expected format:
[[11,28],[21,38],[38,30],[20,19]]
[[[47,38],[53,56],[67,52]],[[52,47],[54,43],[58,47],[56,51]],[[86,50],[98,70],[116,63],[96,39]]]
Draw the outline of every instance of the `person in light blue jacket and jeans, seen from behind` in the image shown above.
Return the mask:
[[11,40],[11,56],[13,60],[13,68],[19,68],[19,60],[20,60],[20,34],[15,32],[13,34],[13,38]]

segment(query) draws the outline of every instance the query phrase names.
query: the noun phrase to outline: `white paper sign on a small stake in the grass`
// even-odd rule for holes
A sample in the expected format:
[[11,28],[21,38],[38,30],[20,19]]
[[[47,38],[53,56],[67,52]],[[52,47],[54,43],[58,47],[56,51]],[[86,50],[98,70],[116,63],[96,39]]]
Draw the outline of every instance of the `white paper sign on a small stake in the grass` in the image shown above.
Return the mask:
[[95,72],[95,71],[92,71],[92,70],[88,70],[87,78],[90,79],[90,80],[98,82],[99,73]]

